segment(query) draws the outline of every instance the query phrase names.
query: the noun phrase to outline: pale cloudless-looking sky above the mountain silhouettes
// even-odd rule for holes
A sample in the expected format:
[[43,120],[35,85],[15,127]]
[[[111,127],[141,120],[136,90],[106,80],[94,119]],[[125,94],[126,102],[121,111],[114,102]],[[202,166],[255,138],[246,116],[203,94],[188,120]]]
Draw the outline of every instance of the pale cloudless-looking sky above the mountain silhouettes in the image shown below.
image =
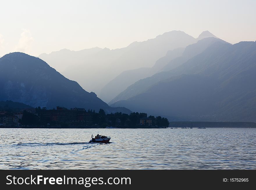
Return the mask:
[[230,42],[256,40],[255,0],[0,1],[0,57],[63,48],[126,47],[172,30],[205,30]]

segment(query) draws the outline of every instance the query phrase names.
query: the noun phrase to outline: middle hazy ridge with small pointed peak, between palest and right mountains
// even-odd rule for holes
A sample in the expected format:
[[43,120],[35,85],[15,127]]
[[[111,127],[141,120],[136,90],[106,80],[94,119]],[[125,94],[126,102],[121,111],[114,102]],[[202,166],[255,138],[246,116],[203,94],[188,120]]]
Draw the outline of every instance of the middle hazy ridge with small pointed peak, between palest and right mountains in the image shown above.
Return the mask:
[[[122,72],[120,75],[118,75],[116,78],[114,78],[112,81],[110,81],[108,84],[106,84],[102,88],[100,96],[104,97],[104,100],[106,102],[109,102],[109,104],[114,103],[115,100],[113,100],[113,98],[115,96],[117,96],[118,94],[120,94],[127,87],[132,85],[134,82],[136,82],[140,79],[152,76],[153,74],[156,74],[160,71],[171,70],[171,69],[179,66],[178,63],[184,62],[184,61],[178,61],[178,62],[176,62],[176,64],[175,63],[170,64],[170,62],[173,59],[175,59],[179,56],[182,56],[182,53],[184,55],[186,55],[186,56],[184,56],[185,61],[186,61],[187,59],[189,59],[190,57],[195,55],[195,51],[202,52],[206,48],[206,47],[204,47],[205,44],[200,43],[200,42],[196,43],[196,42],[201,41],[204,38],[209,38],[209,41],[214,41],[214,39],[216,39],[217,37],[214,36],[213,34],[211,34],[209,31],[204,31],[198,36],[197,39],[194,39],[193,44],[195,43],[195,44],[197,44],[197,46],[193,45],[193,49],[189,48],[190,45],[188,44],[188,46],[186,48],[178,47],[174,50],[169,50],[166,53],[166,55],[161,57],[160,59],[158,59],[156,61],[156,63],[154,64],[154,66],[151,67],[150,69],[148,69],[148,68],[144,69],[143,72],[140,72],[140,70],[142,70],[141,68],[139,68],[137,70],[129,70],[128,73],[130,74],[130,77],[127,77],[127,72]],[[182,41],[184,39],[179,39],[179,40]],[[184,52],[184,50],[186,52]],[[118,88],[116,86],[118,86]],[[109,90],[107,90],[107,89],[109,89]]]

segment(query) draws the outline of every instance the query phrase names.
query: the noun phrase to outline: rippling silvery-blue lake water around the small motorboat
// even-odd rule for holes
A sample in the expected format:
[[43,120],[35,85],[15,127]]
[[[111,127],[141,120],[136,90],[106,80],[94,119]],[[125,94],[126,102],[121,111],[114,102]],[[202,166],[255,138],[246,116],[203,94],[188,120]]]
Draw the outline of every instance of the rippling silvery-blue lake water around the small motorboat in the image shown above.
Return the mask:
[[256,128],[0,129],[0,153],[0,169],[256,169]]

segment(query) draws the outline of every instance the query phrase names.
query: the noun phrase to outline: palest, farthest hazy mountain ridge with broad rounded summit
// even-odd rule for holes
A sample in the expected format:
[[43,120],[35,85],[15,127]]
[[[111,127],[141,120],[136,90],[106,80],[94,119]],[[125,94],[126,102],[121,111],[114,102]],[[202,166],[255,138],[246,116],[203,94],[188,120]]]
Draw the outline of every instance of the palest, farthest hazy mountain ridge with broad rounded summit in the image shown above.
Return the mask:
[[[70,66],[65,67],[65,70],[62,70],[61,66],[62,60],[67,57],[64,53],[58,56],[56,52],[41,54],[39,57],[47,60],[49,65],[54,65],[54,68],[60,70],[67,78],[78,81],[84,89],[98,94],[102,87],[123,71],[152,67],[159,58],[166,55],[167,51],[186,47],[195,42],[195,38],[182,31],[166,32],[154,39],[134,42],[124,48],[115,50],[104,48],[94,54],[80,57],[81,59],[72,55]],[[69,53],[77,54],[72,51]],[[100,97],[104,100],[104,97]]]

